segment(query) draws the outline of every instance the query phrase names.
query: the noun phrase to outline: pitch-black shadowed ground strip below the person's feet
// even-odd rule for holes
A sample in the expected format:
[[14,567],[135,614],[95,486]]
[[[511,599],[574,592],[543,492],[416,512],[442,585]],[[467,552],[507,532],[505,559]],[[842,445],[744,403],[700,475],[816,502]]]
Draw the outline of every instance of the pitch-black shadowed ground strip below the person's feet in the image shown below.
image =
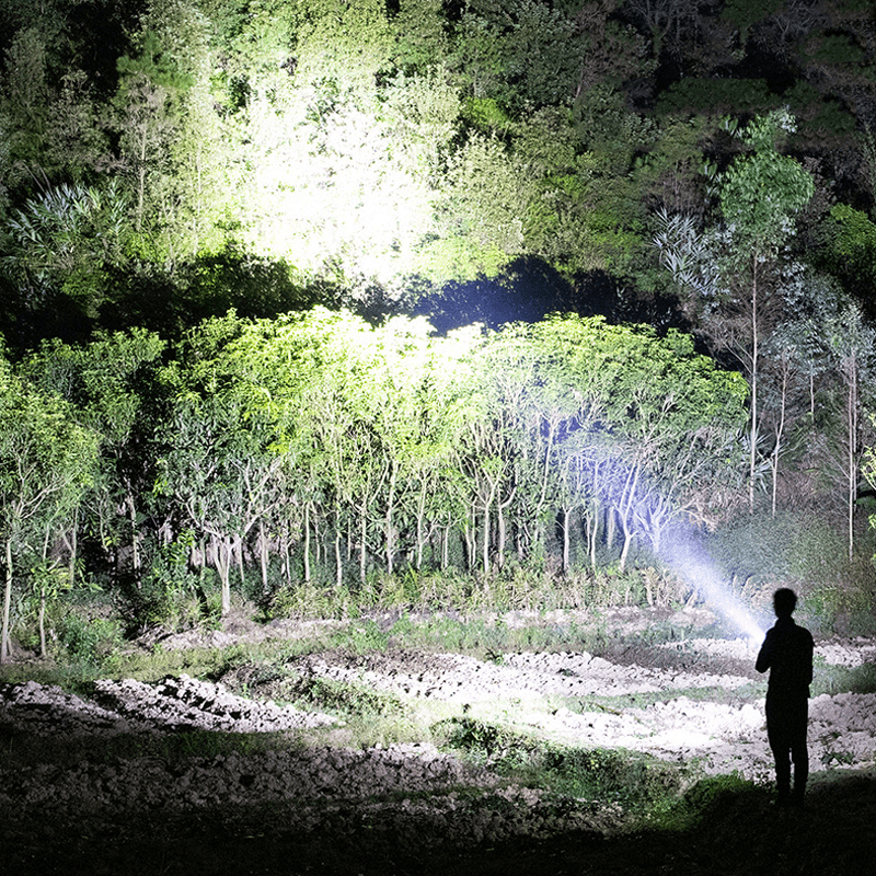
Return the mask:
[[0,848],[4,872],[18,876],[851,876],[873,865],[876,770],[819,773],[802,811],[776,809],[766,791],[746,785],[705,799],[694,795],[675,820],[612,838],[579,833],[459,849],[418,834],[415,822],[400,833],[350,815],[338,806],[324,811],[307,835],[291,835],[284,830],[283,807],[152,811],[100,821],[53,812],[22,822],[7,812]]

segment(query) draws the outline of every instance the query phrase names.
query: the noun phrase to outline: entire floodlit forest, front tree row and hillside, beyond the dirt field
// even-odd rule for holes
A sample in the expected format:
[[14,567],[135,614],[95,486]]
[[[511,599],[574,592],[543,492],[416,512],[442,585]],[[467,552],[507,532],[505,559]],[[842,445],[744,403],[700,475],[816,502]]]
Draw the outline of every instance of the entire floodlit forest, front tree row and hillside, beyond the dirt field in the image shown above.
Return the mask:
[[3,9],[0,658],[684,602],[679,533],[872,624],[869,0]]

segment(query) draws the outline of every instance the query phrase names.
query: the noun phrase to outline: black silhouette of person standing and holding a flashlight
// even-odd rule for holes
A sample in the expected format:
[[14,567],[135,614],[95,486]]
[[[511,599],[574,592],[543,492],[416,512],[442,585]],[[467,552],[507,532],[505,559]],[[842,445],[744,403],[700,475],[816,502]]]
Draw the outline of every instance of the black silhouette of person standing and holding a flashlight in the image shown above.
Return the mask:
[[[794,623],[797,595],[787,587],[773,593],[775,624],[766,632],[754,668],[770,670],[766,685],[766,738],[775,760],[776,803],[803,806],[809,777],[806,725],[809,721],[809,684],[812,681],[811,633]],[[794,792],[791,792],[791,762]]]

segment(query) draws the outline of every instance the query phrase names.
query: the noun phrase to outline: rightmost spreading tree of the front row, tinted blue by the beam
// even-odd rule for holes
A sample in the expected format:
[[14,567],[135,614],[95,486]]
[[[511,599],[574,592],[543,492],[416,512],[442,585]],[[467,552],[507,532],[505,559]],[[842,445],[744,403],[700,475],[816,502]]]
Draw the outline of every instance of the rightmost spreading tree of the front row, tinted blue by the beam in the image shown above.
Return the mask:
[[552,370],[565,374],[578,400],[561,429],[569,442],[561,457],[576,454],[568,471],[579,483],[588,477],[579,496],[589,527],[606,509],[620,525],[621,563],[636,537],[659,551],[673,520],[710,520],[717,496],[706,485],[726,479],[736,462],[747,394],[739,376],[716,369],[673,331],[658,338],[644,326],[570,316],[537,331],[554,356],[564,351],[550,360]]

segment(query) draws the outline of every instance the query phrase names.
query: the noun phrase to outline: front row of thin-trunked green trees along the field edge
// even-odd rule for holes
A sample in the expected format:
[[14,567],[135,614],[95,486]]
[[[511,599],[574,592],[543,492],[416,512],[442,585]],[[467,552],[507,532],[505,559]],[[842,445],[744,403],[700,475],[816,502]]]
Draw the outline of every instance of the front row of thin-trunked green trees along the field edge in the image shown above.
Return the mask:
[[[216,569],[223,612],[235,569],[253,563],[266,590],[278,569],[338,586],[374,569],[488,574],[509,553],[550,552],[561,511],[563,539],[583,556],[586,533],[618,525],[625,562],[634,542],[658,544],[680,516],[708,516],[702,479],[738,465],[748,393],[683,335],[574,315],[437,336],[422,319],[372,327],[324,309],[230,313],[155,369],[159,350],[146,335],[54,344],[27,366],[51,376],[55,394],[43,396],[7,366],[15,392],[43,405],[26,426],[10,408],[4,426],[9,465],[21,440],[38,466],[19,480],[8,466],[8,508],[21,508],[8,550],[37,510],[73,526],[78,503],[80,525],[105,533],[107,561],[127,545],[120,562],[139,587],[154,574],[141,554],[157,527],[188,552],[193,580]],[[135,442],[151,486],[125,476]],[[69,496],[60,519],[45,509],[56,494]]]

